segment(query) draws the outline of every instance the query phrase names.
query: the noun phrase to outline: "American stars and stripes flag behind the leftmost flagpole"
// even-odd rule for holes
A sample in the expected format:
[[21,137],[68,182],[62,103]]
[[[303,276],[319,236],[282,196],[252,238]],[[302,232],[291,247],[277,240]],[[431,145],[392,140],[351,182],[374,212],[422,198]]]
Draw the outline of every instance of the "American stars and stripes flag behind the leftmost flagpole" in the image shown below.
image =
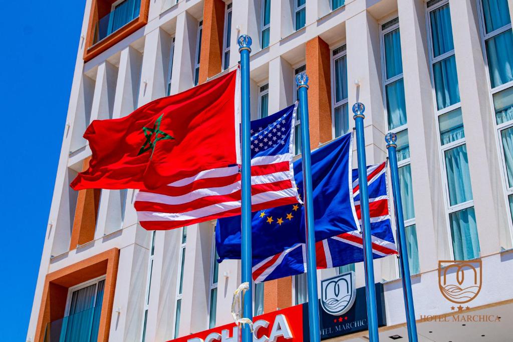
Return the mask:
[[[292,137],[297,105],[251,122],[252,210],[301,202],[294,182]],[[147,230],[167,230],[240,215],[240,165],[202,171],[140,191],[135,210]]]

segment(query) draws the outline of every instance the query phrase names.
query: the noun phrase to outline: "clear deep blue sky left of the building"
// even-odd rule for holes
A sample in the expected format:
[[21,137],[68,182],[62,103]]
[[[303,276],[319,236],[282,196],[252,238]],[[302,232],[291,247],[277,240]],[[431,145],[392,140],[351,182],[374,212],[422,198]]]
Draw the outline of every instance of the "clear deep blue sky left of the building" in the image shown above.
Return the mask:
[[3,2],[0,21],[0,326],[25,341],[85,0]]

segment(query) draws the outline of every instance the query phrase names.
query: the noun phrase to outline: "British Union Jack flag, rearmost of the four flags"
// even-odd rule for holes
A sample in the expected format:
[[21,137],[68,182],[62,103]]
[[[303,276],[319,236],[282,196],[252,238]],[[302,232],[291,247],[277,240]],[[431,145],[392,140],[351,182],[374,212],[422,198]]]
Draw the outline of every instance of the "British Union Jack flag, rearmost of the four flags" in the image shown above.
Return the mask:
[[[390,226],[385,170],[385,163],[367,167],[373,258],[398,254]],[[358,170],[353,170],[352,173],[354,206],[358,219],[361,219]],[[298,219],[303,218],[299,217]],[[362,234],[359,230],[354,230],[332,236],[317,242],[315,249],[318,269],[357,263],[363,260]],[[295,244],[281,253],[261,260],[253,266],[253,279],[259,283],[305,272],[306,245]]]

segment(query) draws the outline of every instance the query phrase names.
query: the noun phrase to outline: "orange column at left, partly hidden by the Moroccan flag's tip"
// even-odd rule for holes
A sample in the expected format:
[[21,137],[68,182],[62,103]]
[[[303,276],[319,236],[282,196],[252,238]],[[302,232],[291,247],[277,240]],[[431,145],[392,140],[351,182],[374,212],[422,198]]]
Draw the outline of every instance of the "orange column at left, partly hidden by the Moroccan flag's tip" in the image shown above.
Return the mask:
[[[87,170],[91,157],[84,160],[82,170]],[[69,249],[73,250],[77,245],[83,245],[94,239],[96,219],[98,218],[98,206],[100,205],[101,189],[86,189],[78,191],[76,200],[75,218]]]

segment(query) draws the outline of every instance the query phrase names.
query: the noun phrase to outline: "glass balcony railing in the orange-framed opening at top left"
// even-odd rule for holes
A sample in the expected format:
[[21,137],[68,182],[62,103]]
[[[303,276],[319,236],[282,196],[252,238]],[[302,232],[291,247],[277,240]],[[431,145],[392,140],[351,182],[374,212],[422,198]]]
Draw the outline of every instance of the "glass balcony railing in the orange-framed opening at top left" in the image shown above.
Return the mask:
[[94,26],[93,45],[139,17],[141,0],[125,0],[114,5],[112,12],[98,20]]

